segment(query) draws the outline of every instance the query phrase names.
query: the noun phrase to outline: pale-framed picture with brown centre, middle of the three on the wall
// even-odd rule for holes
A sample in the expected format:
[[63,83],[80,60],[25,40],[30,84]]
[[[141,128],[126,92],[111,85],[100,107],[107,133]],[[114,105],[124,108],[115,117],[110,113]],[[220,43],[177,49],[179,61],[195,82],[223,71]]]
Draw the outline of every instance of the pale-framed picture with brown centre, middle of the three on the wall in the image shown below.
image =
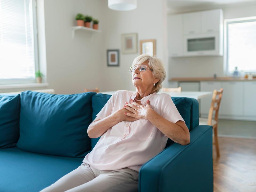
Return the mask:
[[122,42],[122,53],[123,54],[131,54],[137,53],[138,40],[137,33],[126,33],[121,35]]

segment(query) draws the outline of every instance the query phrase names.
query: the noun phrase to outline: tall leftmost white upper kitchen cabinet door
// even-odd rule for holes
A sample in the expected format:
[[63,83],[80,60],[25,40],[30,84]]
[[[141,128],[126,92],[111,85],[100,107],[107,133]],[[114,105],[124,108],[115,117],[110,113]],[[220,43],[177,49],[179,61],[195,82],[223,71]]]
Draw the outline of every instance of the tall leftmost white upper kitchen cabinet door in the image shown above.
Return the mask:
[[168,16],[167,23],[169,56],[181,57],[183,56],[182,14]]

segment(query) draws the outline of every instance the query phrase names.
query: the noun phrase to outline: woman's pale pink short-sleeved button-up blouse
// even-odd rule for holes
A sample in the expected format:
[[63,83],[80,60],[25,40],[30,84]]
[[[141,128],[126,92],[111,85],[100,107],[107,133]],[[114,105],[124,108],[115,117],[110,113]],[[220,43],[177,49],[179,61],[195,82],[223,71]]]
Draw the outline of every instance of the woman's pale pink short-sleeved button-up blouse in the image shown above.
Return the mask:
[[[121,109],[125,102],[130,103],[136,92],[119,90],[96,115],[99,119]],[[184,121],[171,96],[166,93],[152,93],[140,101],[146,101],[154,111],[170,122]],[[170,128],[171,129],[171,128]],[[110,127],[99,139],[93,150],[83,159],[84,163],[98,170],[117,170],[128,167],[139,171],[140,167],[165,149],[167,137],[150,121],[121,121]]]

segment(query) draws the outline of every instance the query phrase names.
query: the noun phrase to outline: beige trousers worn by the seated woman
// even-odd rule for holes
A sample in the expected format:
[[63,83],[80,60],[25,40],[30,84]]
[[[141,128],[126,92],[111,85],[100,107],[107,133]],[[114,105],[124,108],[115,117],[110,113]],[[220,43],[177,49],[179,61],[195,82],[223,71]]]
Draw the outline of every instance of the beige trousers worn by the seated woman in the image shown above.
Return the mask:
[[40,192],[138,191],[138,177],[138,171],[129,168],[98,170],[82,163],[77,169]]

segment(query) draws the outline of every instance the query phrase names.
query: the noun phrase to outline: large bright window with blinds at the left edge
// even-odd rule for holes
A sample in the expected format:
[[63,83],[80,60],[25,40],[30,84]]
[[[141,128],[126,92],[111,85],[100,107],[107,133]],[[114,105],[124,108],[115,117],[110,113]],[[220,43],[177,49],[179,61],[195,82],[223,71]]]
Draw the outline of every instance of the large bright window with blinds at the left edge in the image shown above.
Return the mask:
[[35,0],[0,0],[0,84],[36,82],[36,27]]

